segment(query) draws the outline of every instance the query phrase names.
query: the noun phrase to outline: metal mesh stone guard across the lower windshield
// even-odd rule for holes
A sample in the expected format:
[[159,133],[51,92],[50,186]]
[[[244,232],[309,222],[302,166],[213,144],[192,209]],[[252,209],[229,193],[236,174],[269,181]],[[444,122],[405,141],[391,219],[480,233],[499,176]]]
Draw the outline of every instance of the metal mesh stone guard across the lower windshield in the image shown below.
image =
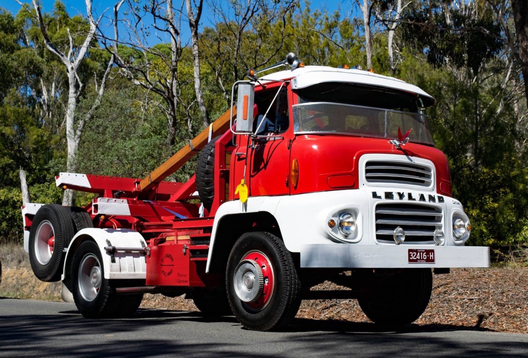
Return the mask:
[[429,117],[419,113],[401,112],[343,103],[310,102],[293,106],[295,133],[341,133],[362,137],[398,138],[412,129],[411,142],[433,144]]

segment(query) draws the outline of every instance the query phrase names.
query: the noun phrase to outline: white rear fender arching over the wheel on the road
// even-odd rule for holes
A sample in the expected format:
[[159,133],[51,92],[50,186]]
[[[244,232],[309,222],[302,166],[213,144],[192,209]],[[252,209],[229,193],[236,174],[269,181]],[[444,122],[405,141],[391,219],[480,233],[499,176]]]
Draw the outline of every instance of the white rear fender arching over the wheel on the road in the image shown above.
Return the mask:
[[[80,230],[71,240],[64,259],[62,280],[70,278],[70,266],[76,249],[79,245],[91,240],[99,247],[103,271],[106,279],[145,279],[147,264],[145,248],[147,243],[143,236],[130,229],[98,229],[89,228]],[[106,247],[115,247],[114,260],[112,255],[106,251]],[[127,250],[119,250],[127,248]],[[136,249],[130,251],[128,249]],[[112,262],[115,261],[115,262]]]

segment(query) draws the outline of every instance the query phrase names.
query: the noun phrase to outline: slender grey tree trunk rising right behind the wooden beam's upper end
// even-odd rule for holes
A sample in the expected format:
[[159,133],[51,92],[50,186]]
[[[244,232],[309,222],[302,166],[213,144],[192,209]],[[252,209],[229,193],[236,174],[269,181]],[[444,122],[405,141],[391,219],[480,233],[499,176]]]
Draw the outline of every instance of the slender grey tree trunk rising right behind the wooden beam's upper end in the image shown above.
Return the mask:
[[205,102],[202,93],[202,81],[200,79],[200,56],[198,46],[198,25],[200,23],[200,17],[202,16],[203,0],[200,0],[200,3],[196,6],[196,16],[194,16],[191,0],[185,0],[185,5],[187,7],[189,28],[191,29],[191,42],[194,60],[194,92],[196,93],[196,102],[198,103],[198,107],[200,108],[200,112],[202,114],[203,126],[208,127],[209,113],[207,111],[207,108],[205,108]]

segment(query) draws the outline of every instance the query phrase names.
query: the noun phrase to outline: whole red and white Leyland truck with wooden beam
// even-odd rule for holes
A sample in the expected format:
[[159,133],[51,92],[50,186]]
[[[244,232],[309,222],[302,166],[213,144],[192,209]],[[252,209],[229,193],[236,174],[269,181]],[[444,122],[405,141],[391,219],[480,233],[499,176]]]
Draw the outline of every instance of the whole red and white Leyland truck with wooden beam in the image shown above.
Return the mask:
[[[464,246],[471,225],[433,147],[425,91],[292,53],[248,76],[233,85],[236,106],[147,177],[61,173],[56,185],[92,203],[24,206],[35,275],[62,280],[86,317],[185,293],[204,314],[267,331],[305,298],[357,298],[373,322],[408,324],[433,271],[489,267],[487,247]],[[164,181],[198,153],[191,180]],[[325,280],[347,289],[310,290]]]

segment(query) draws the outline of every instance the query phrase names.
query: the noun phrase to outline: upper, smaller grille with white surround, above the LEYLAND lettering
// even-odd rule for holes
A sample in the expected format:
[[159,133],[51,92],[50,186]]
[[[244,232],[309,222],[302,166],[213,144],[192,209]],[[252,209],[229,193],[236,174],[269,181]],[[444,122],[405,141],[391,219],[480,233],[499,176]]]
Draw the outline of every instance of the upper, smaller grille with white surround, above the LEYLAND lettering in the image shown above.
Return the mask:
[[398,183],[429,187],[432,177],[432,168],[428,165],[392,161],[365,163],[365,180],[369,184]]

